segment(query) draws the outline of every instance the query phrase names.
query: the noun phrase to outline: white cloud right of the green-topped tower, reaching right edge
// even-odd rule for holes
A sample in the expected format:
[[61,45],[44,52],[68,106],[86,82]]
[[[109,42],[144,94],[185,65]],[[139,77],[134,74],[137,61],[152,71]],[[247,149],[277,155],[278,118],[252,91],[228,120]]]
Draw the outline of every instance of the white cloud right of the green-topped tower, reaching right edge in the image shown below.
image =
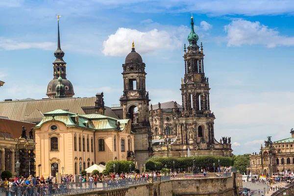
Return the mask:
[[261,25],[259,22],[237,20],[225,25],[224,29],[227,32],[228,46],[243,44],[262,44],[268,48],[294,46],[294,37],[281,36],[276,29]]

